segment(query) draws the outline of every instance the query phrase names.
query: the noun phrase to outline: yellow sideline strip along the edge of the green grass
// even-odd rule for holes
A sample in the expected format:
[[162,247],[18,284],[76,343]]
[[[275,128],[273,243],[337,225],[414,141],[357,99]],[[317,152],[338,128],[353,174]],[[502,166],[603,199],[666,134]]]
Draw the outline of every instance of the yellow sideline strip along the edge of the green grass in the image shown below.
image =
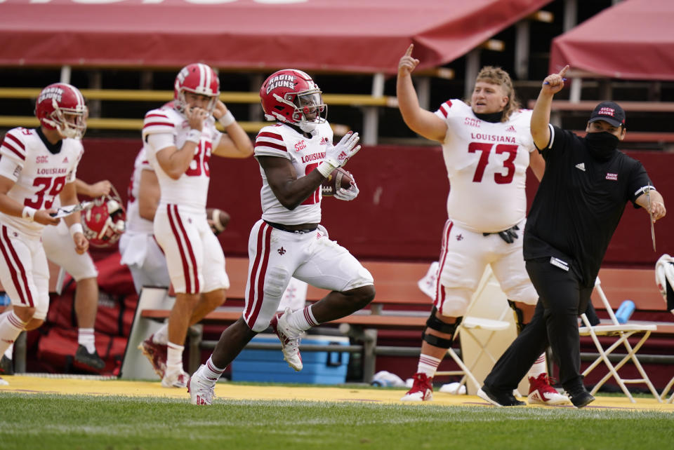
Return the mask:
[[[0,386],[2,393],[62,394],[62,395],[127,395],[130,397],[182,398],[187,402],[186,389],[162,388],[159,381],[93,380],[93,379],[51,379],[39,376],[3,376],[9,386]],[[359,389],[312,386],[252,386],[235,383],[218,383],[216,401],[223,400],[307,400],[332,402],[372,402],[444,406],[490,406],[475,395],[451,395],[434,393],[432,402],[400,402],[405,388]],[[545,408],[532,405],[534,408]],[[568,406],[570,408],[570,406]],[[626,397],[597,397],[588,409],[641,409],[674,412],[674,404],[658,403],[653,398],[637,398],[630,403]]]

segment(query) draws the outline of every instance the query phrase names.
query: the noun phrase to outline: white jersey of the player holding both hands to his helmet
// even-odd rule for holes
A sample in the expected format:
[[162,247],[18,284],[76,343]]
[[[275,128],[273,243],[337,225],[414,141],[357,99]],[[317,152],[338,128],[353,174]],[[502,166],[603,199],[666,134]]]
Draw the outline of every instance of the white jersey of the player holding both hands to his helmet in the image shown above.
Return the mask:
[[172,179],[161,169],[157,162],[157,151],[150,144],[147,144],[147,136],[152,134],[167,133],[173,136],[173,142],[176,148],[180,149],[185,144],[185,138],[190,132],[190,125],[187,118],[175,109],[153,109],[145,114],[143,123],[143,148],[154,172],[157,173],[159,187],[161,188],[160,205],[180,205],[188,209],[199,212],[206,209],[206,197],[209,192],[209,182],[211,181],[211,168],[209,161],[211,151],[214,146],[220,143],[222,133],[216,130],[213,117],[209,117],[204,122],[204,128],[201,130],[201,141],[194,149],[194,159],[190,163],[190,168],[178,179]]

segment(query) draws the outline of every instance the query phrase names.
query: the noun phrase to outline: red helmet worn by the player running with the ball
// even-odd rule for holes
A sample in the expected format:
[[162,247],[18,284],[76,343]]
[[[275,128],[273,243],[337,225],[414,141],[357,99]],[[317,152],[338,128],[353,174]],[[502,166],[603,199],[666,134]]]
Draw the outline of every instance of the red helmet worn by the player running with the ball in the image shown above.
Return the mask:
[[308,74],[283,69],[271,74],[260,88],[260,101],[267,121],[298,125],[311,132],[328,115],[328,106],[318,85]]

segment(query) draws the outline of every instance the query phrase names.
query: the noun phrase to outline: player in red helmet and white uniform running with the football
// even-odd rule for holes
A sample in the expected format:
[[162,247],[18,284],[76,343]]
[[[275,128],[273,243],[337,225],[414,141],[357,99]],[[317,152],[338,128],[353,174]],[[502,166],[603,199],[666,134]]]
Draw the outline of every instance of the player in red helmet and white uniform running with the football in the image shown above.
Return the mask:
[[[213,387],[253,336],[272,326],[289,366],[300,371],[300,335],[322,322],[350,315],[374,299],[372,275],[348,250],[328,238],[321,221],[321,183],[360,149],[357,133],[333,145],[322,93],[308,74],[284,69],[260,89],[267,120],[255,156],[262,175],[262,219],[249,237],[246,306],[220,336],[213,354],[188,385],[193,404],[211,404]],[[352,200],[358,189],[335,193]],[[277,315],[291,277],[331,291],[311,306]]]

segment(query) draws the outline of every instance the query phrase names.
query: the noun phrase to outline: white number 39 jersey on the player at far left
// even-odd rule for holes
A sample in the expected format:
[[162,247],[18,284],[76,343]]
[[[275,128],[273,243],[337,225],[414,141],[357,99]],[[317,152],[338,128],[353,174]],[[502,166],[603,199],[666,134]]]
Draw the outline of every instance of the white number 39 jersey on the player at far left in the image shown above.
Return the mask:
[[[78,139],[62,139],[60,150],[52,154],[37,129],[9,130],[0,146],[0,175],[15,182],[7,195],[36,210],[55,207],[63,186],[75,181],[83,152]],[[1,212],[0,221],[30,236],[40,236],[44,229],[44,225],[37,222]]]

